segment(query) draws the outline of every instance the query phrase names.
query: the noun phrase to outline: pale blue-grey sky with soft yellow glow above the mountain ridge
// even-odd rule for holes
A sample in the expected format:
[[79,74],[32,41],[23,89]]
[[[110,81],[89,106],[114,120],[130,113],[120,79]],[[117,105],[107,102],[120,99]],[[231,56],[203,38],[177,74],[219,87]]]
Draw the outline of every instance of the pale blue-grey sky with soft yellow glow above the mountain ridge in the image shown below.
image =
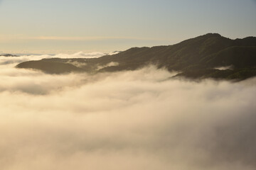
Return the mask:
[[0,52],[112,52],[256,36],[255,0],[0,0]]

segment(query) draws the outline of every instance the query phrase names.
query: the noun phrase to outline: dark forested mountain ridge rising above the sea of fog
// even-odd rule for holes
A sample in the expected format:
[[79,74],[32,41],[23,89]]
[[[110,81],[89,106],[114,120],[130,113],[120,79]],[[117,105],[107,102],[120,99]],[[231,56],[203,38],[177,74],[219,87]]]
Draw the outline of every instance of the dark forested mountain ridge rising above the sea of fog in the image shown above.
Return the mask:
[[[75,66],[72,64],[74,62],[80,63],[82,67]],[[148,64],[155,64],[158,68],[164,67],[170,72],[181,72],[176,77],[247,79],[256,76],[256,38],[231,40],[216,33],[208,33],[176,45],[133,47],[117,55],[92,59],[43,59],[23,62],[17,67],[62,74],[117,72],[139,69]],[[217,69],[228,66],[232,69]]]

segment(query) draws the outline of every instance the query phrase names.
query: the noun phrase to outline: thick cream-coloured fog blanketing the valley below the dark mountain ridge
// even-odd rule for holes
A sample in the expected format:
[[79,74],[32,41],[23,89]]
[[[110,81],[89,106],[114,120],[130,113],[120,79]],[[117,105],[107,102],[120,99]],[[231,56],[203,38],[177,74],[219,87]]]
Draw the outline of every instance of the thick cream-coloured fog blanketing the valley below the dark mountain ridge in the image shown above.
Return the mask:
[[0,57],[2,170],[256,169],[256,79],[15,68],[43,57]]

